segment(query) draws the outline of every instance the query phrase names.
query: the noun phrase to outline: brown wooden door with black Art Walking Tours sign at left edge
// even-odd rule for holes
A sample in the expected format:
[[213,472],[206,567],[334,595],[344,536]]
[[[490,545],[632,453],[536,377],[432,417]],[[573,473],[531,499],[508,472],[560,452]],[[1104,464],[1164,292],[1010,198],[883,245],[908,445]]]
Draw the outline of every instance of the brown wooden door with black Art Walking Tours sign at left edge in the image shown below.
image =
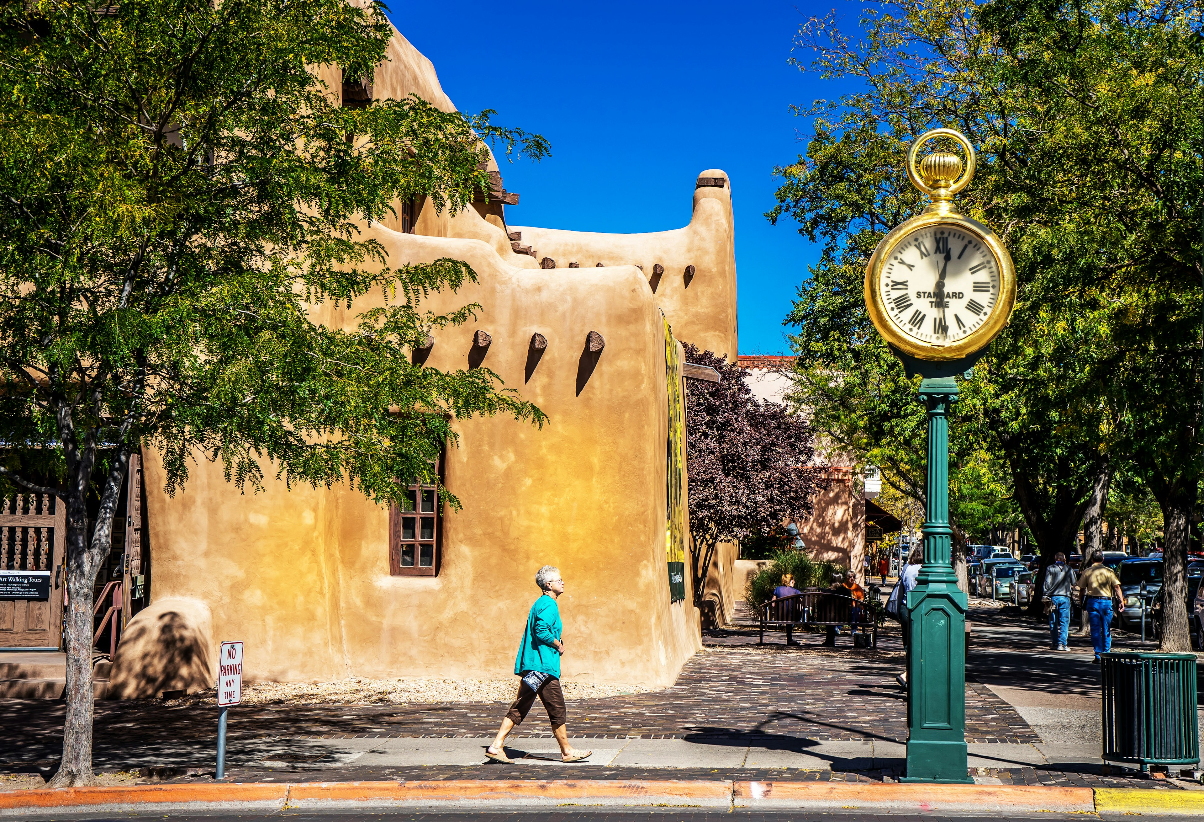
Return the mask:
[[0,500],[0,648],[60,647],[66,533],[66,505],[58,497]]

